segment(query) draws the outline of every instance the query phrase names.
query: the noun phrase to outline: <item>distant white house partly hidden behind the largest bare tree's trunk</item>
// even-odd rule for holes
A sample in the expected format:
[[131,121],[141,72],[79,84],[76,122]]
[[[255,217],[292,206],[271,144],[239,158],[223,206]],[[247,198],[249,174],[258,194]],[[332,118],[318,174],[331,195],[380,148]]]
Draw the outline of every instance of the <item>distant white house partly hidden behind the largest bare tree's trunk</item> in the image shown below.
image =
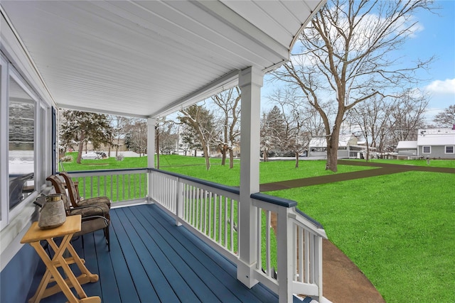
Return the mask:
[[[340,134],[338,140],[338,158],[363,158],[366,146],[360,144],[358,138],[352,133]],[[308,150],[309,157],[327,157],[326,138],[312,138]]]

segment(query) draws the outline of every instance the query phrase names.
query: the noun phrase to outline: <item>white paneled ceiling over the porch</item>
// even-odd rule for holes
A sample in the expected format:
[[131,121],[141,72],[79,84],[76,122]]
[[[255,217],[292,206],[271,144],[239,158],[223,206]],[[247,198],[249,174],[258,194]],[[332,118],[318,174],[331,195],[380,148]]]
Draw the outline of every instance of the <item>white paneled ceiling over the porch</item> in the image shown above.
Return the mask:
[[288,60],[324,2],[1,0],[1,11],[59,107],[158,117]]

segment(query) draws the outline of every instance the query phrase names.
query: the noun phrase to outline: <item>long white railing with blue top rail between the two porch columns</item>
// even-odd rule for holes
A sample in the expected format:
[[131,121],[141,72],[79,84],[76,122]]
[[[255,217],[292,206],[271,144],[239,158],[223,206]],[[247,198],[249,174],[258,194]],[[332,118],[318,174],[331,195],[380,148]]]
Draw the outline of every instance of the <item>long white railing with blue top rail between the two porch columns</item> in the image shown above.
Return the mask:
[[235,263],[239,190],[193,177],[151,169],[153,202]]

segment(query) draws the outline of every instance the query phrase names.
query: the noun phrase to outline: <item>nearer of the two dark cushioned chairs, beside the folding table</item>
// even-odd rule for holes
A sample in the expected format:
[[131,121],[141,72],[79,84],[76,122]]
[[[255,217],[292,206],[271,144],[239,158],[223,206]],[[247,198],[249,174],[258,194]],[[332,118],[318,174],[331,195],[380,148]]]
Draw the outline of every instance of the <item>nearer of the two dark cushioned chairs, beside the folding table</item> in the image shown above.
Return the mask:
[[[62,195],[63,204],[65,205],[65,211],[67,216],[73,216],[80,214],[82,216],[82,226],[81,230],[74,234],[74,236],[82,236],[85,233],[92,233],[102,229],[105,234],[107,248],[110,251],[110,241],[109,241],[109,207],[105,203],[101,204],[92,204],[85,206],[70,206],[70,199],[66,194],[65,186],[59,177],[55,175],[50,175],[46,178],[53,184],[55,192]],[[84,245],[82,238],[82,246]]]

